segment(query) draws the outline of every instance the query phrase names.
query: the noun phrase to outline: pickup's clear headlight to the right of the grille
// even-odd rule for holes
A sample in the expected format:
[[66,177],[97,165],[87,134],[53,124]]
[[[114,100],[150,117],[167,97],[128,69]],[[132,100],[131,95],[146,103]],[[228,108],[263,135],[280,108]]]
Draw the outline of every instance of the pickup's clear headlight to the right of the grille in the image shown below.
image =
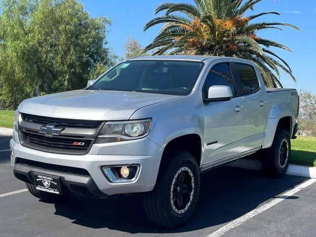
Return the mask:
[[151,124],[151,118],[106,122],[95,143],[120,142],[145,137]]

